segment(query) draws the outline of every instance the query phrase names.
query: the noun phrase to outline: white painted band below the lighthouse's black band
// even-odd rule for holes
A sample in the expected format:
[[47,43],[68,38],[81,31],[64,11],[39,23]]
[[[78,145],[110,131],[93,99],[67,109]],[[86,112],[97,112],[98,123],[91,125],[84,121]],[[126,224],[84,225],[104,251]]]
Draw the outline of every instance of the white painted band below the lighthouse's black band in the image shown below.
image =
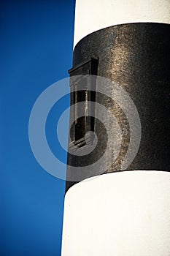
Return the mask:
[[62,256],[169,256],[170,173],[125,171],[66,193]]

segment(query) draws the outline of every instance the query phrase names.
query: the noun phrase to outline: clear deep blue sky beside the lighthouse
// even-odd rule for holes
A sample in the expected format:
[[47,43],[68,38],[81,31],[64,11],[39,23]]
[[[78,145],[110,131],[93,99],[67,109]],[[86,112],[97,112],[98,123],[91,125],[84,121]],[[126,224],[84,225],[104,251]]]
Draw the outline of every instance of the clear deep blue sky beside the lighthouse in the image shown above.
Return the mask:
[[[0,26],[0,255],[58,256],[65,181],[50,176],[36,162],[28,120],[39,94],[68,77],[72,67],[74,0],[1,1]],[[65,97],[47,125],[47,140],[63,162],[66,152],[57,150],[54,120],[55,110],[68,106]],[[68,123],[63,127],[66,141]]]

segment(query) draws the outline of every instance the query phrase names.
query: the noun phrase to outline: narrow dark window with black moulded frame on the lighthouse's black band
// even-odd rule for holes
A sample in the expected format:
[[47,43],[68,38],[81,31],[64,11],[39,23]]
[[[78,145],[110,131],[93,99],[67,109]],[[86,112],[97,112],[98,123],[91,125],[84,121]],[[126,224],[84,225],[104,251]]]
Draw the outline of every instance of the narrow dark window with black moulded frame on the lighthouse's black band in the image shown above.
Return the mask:
[[[85,133],[94,131],[95,109],[92,108],[92,102],[96,100],[96,78],[90,76],[80,78],[78,75],[97,75],[97,69],[98,59],[93,58],[69,69],[70,76],[74,76],[70,82],[71,105],[74,106],[74,113],[70,113],[74,120],[70,129],[70,137],[71,143],[78,147],[85,146]],[[82,102],[82,109],[75,105],[78,102]],[[93,138],[89,138],[89,143],[93,143]]]

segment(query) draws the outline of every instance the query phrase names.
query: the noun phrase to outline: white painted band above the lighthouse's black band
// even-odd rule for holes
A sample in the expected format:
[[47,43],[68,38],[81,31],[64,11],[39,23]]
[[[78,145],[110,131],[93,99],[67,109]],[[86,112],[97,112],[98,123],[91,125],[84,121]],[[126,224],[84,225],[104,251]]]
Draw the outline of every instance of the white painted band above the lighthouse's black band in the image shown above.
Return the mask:
[[139,22],[170,23],[170,0],[76,0],[74,46],[99,29]]

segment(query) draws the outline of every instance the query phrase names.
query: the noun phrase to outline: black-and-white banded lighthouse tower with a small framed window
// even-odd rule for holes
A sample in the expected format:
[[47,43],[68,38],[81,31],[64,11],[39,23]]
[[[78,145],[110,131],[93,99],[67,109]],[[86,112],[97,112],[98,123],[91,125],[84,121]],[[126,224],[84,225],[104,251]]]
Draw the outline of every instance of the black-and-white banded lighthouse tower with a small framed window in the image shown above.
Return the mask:
[[169,256],[170,1],[75,8],[62,256]]

